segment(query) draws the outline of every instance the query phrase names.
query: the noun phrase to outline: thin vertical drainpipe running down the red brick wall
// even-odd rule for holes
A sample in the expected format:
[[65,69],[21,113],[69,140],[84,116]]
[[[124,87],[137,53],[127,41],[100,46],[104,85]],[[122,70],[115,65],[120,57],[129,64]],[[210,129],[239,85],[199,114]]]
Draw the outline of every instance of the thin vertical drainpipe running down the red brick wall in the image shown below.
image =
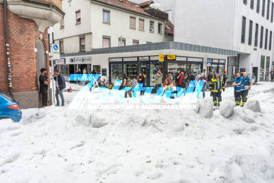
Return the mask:
[[7,49],[7,63],[8,63],[8,85],[9,93],[12,95],[12,68],[10,66],[10,44],[8,40],[8,8],[7,0],[4,0],[4,25],[5,25],[5,47]]

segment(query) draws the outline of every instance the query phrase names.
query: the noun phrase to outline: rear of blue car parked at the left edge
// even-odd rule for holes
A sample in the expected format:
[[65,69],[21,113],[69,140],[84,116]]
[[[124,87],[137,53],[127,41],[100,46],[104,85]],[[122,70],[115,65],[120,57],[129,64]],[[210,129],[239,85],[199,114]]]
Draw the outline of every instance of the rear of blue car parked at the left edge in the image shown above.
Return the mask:
[[22,119],[22,112],[18,101],[12,96],[0,90],[0,119],[10,118],[15,122]]

